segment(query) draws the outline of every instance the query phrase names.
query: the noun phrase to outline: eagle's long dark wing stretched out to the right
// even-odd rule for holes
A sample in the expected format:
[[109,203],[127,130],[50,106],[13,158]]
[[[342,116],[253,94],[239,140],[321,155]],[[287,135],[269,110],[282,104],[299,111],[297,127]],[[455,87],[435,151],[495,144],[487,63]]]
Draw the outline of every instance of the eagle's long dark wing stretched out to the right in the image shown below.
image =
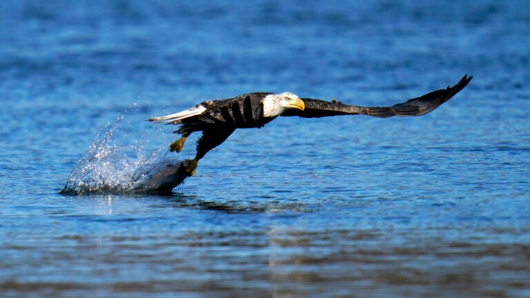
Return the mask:
[[436,90],[421,97],[409,99],[404,103],[397,103],[391,107],[362,107],[341,103],[340,101],[323,101],[321,99],[302,98],[306,108],[302,110],[286,110],[282,116],[298,116],[317,118],[336,115],[369,115],[373,117],[420,116],[438,108],[460,92],[473,76],[467,74],[453,87]]

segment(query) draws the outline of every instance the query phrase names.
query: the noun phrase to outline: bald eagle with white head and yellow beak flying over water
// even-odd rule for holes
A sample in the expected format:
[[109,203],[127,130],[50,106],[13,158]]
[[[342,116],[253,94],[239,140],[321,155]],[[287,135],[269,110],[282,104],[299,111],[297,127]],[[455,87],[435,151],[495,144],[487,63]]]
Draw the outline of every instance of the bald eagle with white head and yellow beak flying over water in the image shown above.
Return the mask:
[[368,115],[373,117],[420,116],[438,108],[467,86],[472,76],[467,74],[455,86],[435,90],[389,107],[362,107],[340,101],[299,98],[291,92],[273,94],[253,92],[230,99],[210,100],[175,114],[148,119],[155,123],[180,125],[175,130],[181,138],[170,145],[170,151],[180,152],[184,141],[193,132],[202,131],[197,142],[197,155],[186,159],[181,174],[195,174],[197,162],[206,152],[219,146],[236,128],[261,128],[278,116],[318,118],[336,115]]

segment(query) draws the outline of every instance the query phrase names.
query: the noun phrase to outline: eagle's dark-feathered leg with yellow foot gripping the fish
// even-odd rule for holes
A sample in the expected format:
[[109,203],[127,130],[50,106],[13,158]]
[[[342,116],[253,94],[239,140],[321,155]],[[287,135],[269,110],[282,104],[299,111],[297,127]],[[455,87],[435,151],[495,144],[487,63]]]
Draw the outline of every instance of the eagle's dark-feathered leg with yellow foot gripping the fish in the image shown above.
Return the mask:
[[204,155],[213,148],[219,146],[228,136],[234,132],[235,128],[223,128],[215,130],[204,130],[202,137],[197,142],[197,155],[194,159],[186,159],[182,163],[181,170],[184,171],[185,175],[193,176],[197,169],[197,163],[199,159],[202,159]]

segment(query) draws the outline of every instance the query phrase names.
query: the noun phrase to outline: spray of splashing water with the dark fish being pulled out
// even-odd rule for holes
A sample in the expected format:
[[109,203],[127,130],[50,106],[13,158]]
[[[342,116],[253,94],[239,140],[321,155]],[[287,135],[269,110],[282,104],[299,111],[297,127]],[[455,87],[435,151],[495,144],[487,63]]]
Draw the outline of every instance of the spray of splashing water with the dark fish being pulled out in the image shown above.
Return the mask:
[[61,193],[167,193],[188,177],[179,170],[184,161],[168,155],[167,146],[150,149],[153,137],[144,134],[130,143],[131,124],[123,119],[118,117],[113,126],[108,123],[103,137],[96,137]]

